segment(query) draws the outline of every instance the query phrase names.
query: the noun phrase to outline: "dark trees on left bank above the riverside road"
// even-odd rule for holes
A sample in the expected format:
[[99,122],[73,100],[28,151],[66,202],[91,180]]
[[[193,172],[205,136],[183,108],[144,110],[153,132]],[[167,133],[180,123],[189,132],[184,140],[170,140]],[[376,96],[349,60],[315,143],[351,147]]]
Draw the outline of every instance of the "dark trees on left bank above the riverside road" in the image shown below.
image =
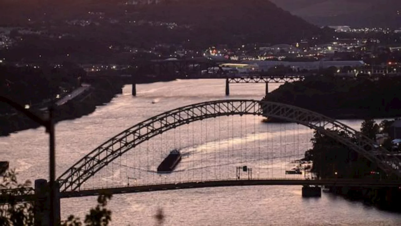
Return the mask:
[[[85,71],[69,62],[59,68],[46,64],[34,67],[0,65],[0,94],[20,104],[40,105],[79,86],[82,76]],[[0,103],[0,114],[10,112],[13,111],[8,105]]]

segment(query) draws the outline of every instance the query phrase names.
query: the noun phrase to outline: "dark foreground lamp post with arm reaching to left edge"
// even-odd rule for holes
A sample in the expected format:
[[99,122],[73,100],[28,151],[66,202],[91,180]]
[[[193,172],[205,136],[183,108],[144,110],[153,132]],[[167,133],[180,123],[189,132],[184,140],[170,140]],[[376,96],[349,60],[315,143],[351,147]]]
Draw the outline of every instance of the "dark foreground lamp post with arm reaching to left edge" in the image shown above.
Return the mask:
[[15,103],[10,98],[0,96],[0,101],[6,103],[16,109],[17,111],[22,112],[24,115],[28,116],[33,121],[43,125],[46,128],[46,132],[49,134],[49,184],[50,184],[50,225],[55,226],[58,225],[56,222],[57,217],[55,216],[55,175],[56,175],[56,160],[55,160],[55,129],[54,129],[54,107],[49,107],[49,119],[45,120],[41,117],[35,115],[28,109],[25,109],[22,105]]

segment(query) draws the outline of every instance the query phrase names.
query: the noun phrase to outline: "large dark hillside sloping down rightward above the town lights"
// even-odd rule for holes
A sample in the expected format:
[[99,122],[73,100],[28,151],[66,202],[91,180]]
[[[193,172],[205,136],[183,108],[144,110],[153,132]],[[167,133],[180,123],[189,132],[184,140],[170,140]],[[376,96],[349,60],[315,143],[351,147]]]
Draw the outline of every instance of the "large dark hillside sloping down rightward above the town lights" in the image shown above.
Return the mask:
[[[57,20],[57,14],[49,17],[50,12],[46,13],[46,18],[33,16],[29,24],[21,26],[46,31],[47,34],[24,35],[22,40],[16,39],[15,46],[1,50],[0,55],[12,61],[22,58],[37,60],[37,56],[42,55],[43,59],[48,60],[73,59],[82,63],[93,58],[93,61],[99,62],[112,60],[114,51],[109,47],[116,45],[150,48],[159,43],[168,43],[200,50],[222,43],[229,46],[294,43],[312,37],[319,37],[324,42],[331,40],[333,34],[331,30],[311,25],[269,1],[185,0],[146,6],[118,6],[117,3],[113,5],[102,1],[92,3],[81,4],[81,7],[73,10],[76,13],[69,18],[63,16],[62,20]],[[99,8],[101,5],[107,7]],[[64,8],[60,12],[56,8],[52,10],[60,15],[66,13]],[[30,11],[35,12],[33,8]],[[97,16],[89,20],[86,19],[89,11],[105,14],[101,19]],[[26,17],[24,15],[24,20],[28,21]],[[92,23],[81,27],[66,23],[67,20],[81,19],[96,22],[97,25]],[[114,22],[111,23],[111,20]],[[156,22],[175,23],[177,26],[170,28]],[[16,26],[11,24],[8,26]]]

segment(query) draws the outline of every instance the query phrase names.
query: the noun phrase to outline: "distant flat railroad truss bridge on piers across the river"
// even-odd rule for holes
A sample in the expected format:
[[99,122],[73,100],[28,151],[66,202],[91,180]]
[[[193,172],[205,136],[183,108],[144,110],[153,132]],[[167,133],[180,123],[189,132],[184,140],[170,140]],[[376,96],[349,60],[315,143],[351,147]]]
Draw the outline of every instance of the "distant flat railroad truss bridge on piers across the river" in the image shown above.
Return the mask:
[[[220,63],[206,58],[193,58],[184,60],[152,60],[144,62],[135,62],[129,68],[120,70],[119,72],[107,72],[104,75],[89,75],[87,80],[99,78],[118,78],[132,84],[132,95],[137,95],[136,84],[143,81],[168,81],[174,79],[225,79],[225,95],[230,95],[230,84],[243,83],[265,83],[265,95],[268,94],[269,83],[285,83],[304,80],[308,76],[316,76],[312,73],[286,73],[286,74],[269,74],[267,72],[249,72],[247,74],[235,75],[230,74],[221,68]],[[365,75],[353,76],[350,74],[337,74],[340,77],[348,80],[355,79],[372,79],[399,77],[401,74],[371,74],[368,77]]]

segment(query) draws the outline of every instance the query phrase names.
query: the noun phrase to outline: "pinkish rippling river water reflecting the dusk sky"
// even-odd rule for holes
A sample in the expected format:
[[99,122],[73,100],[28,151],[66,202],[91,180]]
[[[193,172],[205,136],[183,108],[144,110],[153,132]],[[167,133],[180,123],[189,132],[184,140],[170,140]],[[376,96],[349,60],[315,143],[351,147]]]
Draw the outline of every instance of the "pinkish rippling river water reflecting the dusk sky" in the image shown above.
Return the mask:
[[[273,90],[278,86],[278,84],[270,84],[269,89]],[[261,99],[265,85],[231,84],[230,89],[231,96],[225,97],[225,82],[223,80],[176,80],[137,85],[138,96],[132,97],[131,86],[127,85],[124,87],[122,95],[114,98],[111,103],[98,107],[91,115],[57,124],[57,175],[63,173],[79,158],[113,135],[153,115],[204,101],[225,98]],[[152,104],[152,102],[158,103]],[[269,146],[267,143],[273,143],[275,146],[267,148],[267,152],[275,152],[271,153],[271,156],[291,155],[293,158],[299,154],[302,155],[303,151],[310,147],[309,139],[312,134],[305,127],[286,124],[285,127],[281,125],[271,126],[271,130],[269,130],[269,128],[265,128],[266,124],[261,123],[260,119],[254,116],[247,116],[245,122],[244,119],[239,121],[236,117],[233,117],[234,119],[226,118],[230,117],[224,117],[221,119],[222,121],[219,121],[221,124],[218,127],[220,128],[218,136],[216,127],[210,129],[210,126],[204,125],[209,128],[208,133],[205,132],[207,129],[202,131],[202,124],[184,125],[182,126],[183,130],[180,131],[180,134],[183,135],[180,135],[179,138],[176,138],[176,134],[170,133],[170,135],[162,137],[164,141],[160,139],[160,143],[158,143],[159,139],[155,138],[155,141],[150,143],[151,146],[156,144],[156,148],[149,148],[149,144],[144,144],[142,150],[148,150],[148,154],[144,155],[148,155],[148,158],[151,156],[153,161],[160,149],[157,147],[160,145],[165,145],[166,150],[171,148],[186,149],[188,153],[201,149],[202,151],[198,155],[193,155],[193,158],[184,158],[183,163],[180,163],[177,170],[184,173],[178,173],[179,176],[169,179],[176,181],[179,178],[183,181],[199,179],[199,172],[193,173],[195,171],[189,171],[190,168],[193,169],[195,165],[207,166],[207,164],[213,164],[213,161],[216,163],[216,153],[219,153],[219,162],[241,162],[243,153],[248,154],[250,157],[247,160],[252,162],[255,159],[252,159],[251,156],[252,153],[256,153],[256,149],[249,148],[249,146],[255,146],[255,144],[266,148]],[[217,119],[212,120],[216,125]],[[209,120],[209,122],[211,121]],[[361,123],[360,120],[345,120],[343,122],[354,129],[358,129]],[[247,127],[248,131],[246,129],[244,131],[243,127]],[[295,130],[297,130],[296,134]],[[202,137],[205,136],[206,138],[202,140]],[[177,147],[176,143],[180,142],[176,142],[176,139],[182,140],[183,144],[179,144]],[[279,139],[286,141],[283,142]],[[296,142],[296,140],[298,141]],[[299,142],[299,140],[305,142]],[[243,145],[243,142],[248,143]],[[267,145],[263,146],[265,143]],[[285,143],[285,148],[279,147],[278,143],[280,145]],[[2,137],[0,138],[0,145],[0,159],[10,161],[10,167],[16,168],[20,181],[47,178],[48,136],[44,129],[29,129],[12,134],[9,137]],[[216,148],[217,145],[218,148]],[[233,148],[232,150],[238,150],[235,153],[241,152],[241,155],[231,156],[230,159],[229,154],[227,156],[222,154],[227,152],[226,149],[229,149],[227,147],[230,145]],[[207,150],[212,149],[215,151],[207,152]],[[284,151],[290,154],[286,154]],[[204,156],[200,157],[200,154],[204,154]],[[199,162],[201,159],[208,159],[207,157],[213,154],[215,157],[212,162],[205,160]],[[266,156],[268,155],[266,153]],[[128,159],[130,162],[130,155],[127,154],[127,156],[125,161],[127,162]],[[260,157],[260,154],[258,156]],[[159,154],[156,161],[162,157]],[[281,159],[279,162],[283,162],[283,160]],[[280,166],[279,162],[258,160],[257,164],[254,162],[252,164],[256,167],[258,174],[259,171],[261,176],[263,174],[263,177],[266,175],[285,177],[284,168],[288,166]],[[212,170],[206,171],[207,173],[202,175],[203,179],[227,178],[227,176],[218,175],[217,169],[223,174],[228,172],[229,177],[235,175],[229,172],[229,169],[224,169],[224,167],[222,169],[221,167],[212,167]],[[132,173],[128,169],[125,172],[122,171],[118,171],[119,176],[117,176],[121,180],[114,180],[117,181],[115,183],[120,183],[120,185],[126,183],[124,178]],[[99,173],[99,181],[107,183],[107,180],[103,179],[113,173]],[[150,173],[148,174],[150,175]],[[158,177],[149,175],[143,173],[141,178],[138,178],[139,182],[141,179],[143,183],[160,180]],[[109,203],[109,208],[113,211],[112,225],[117,226],[156,225],[154,215],[158,208],[162,208],[164,211],[164,225],[401,225],[401,215],[399,214],[377,210],[360,202],[347,201],[331,194],[322,193],[321,198],[303,199],[301,188],[301,186],[219,187],[123,194],[114,195]],[[96,197],[62,199],[62,218],[66,218],[69,214],[76,214],[83,218],[87,210],[93,207],[95,203]]]

